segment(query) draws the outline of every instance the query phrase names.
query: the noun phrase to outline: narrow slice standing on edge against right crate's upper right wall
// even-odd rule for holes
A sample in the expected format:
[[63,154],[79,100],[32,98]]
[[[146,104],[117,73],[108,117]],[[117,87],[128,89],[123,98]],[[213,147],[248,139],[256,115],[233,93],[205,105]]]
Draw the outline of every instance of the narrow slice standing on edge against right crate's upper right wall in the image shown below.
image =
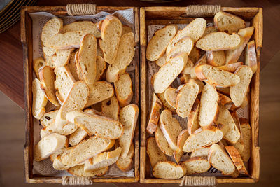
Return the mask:
[[247,43],[246,50],[244,53],[245,65],[251,67],[253,74],[258,69],[257,55],[255,53],[255,41],[250,41]]

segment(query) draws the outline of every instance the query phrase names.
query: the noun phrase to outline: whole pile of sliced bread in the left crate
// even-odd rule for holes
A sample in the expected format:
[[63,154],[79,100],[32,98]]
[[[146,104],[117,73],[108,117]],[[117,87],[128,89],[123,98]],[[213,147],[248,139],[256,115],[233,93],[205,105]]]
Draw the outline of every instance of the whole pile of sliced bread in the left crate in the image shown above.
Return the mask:
[[43,129],[34,160],[50,158],[54,169],[76,176],[102,176],[111,165],[130,171],[139,115],[130,104],[134,81],[126,72],[134,57],[132,29],[113,15],[98,25],[52,18],[41,41],[32,113]]

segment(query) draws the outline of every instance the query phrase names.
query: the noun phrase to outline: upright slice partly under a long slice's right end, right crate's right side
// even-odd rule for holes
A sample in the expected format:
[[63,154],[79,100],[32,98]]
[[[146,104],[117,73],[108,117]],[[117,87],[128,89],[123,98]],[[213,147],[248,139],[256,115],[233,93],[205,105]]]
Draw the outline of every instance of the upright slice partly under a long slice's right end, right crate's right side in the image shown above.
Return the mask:
[[239,67],[235,71],[235,74],[239,76],[240,82],[237,85],[230,87],[230,98],[232,98],[232,102],[235,106],[238,107],[241,106],[242,102],[244,102],[251,78],[253,76],[253,71],[251,67],[244,65]]

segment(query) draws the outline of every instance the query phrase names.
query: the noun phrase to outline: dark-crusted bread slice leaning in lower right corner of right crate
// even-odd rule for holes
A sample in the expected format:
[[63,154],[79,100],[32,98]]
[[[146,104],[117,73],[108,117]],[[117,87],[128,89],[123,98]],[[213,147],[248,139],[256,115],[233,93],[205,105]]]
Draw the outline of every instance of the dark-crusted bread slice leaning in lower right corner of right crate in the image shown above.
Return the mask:
[[234,146],[225,146],[225,150],[227,150],[230,158],[232,159],[232,162],[235,164],[235,167],[237,167],[239,173],[248,175],[248,171],[237,149]]

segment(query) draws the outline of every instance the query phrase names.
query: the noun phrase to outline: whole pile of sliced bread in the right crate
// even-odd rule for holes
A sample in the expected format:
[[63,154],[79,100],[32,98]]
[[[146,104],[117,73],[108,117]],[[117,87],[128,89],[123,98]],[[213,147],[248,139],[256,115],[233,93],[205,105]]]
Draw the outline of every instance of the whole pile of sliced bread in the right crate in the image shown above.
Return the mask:
[[179,31],[166,25],[146,48],[146,59],[160,67],[151,78],[154,95],[146,126],[146,151],[156,178],[180,179],[210,167],[248,176],[244,162],[251,155],[251,126],[236,111],[248,105],[258,69],[250,41],[254,28],[223,11],[216,13],[213,27],[206,25],[203,18]]

